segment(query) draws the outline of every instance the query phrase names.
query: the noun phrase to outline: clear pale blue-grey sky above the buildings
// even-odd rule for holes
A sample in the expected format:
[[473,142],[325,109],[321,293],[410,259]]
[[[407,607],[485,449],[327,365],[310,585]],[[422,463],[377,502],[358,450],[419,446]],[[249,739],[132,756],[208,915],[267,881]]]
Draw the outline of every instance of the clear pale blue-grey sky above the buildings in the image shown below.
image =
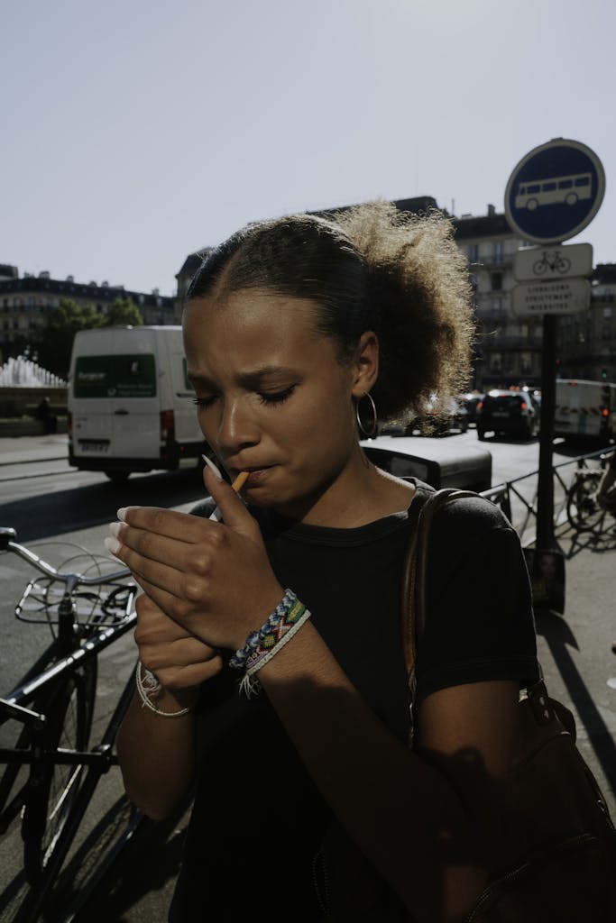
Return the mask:
[[0,263],[175,294],[247,222],[371,198],[504,211],[552,138],[606,174],[613,0],[3,0]]

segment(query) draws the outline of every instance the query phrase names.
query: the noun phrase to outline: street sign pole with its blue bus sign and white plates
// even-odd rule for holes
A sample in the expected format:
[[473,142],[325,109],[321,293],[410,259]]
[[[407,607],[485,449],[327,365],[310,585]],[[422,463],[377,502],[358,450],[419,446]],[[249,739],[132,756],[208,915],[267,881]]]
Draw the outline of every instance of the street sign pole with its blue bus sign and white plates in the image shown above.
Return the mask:
[[[605,173],[593,150],[553,138],[529,151],[513,169],[505,190],[505,215],[526,241],[556,249],[522,253],[514,262],[520,285],[513,289],[513,314],[543,313],[541,428],[534,548],[525,549],[534,603],[564,612],[564,556],[554,533],[552,440],[556,411],[556,333],[559,314],[586,310],[592,250],[569,240],[592,221],[605,192]],[[567,253],[570,256],[567,256]]]

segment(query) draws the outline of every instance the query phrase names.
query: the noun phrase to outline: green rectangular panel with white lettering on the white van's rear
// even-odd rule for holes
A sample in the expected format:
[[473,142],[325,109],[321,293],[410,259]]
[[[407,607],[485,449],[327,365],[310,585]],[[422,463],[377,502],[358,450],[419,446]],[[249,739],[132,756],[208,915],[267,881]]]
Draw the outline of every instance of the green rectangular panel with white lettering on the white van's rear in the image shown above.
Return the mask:
[[156,397],[152,354],[81,355],[75,365],[76,398]]

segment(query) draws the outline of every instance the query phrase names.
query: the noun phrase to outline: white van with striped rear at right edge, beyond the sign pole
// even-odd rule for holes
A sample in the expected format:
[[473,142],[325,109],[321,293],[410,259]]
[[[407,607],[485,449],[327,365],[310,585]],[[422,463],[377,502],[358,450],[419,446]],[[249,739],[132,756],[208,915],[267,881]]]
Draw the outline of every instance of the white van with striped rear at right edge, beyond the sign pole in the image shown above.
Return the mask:
[[616,436],[616,385],[610,381],[558,378],[554,436],[607,444]]

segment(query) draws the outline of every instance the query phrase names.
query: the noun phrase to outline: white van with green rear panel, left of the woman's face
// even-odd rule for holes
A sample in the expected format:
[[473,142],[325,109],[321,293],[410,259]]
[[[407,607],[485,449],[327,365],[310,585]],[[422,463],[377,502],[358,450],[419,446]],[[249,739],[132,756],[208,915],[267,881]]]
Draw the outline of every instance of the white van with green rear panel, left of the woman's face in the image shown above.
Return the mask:
[[205,449],[181,327],[79,330],[68,381],[68,462],[113,481],[197,467]]

